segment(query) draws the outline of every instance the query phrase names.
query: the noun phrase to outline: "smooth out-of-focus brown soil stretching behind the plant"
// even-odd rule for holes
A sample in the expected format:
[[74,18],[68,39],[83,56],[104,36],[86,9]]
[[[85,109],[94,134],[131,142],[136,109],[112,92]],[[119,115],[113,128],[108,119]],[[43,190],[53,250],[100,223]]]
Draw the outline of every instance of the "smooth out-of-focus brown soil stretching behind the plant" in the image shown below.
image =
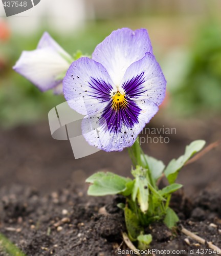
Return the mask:
[[[207,144],[221,138],[221,118],[210,120],[176,120],[154,117],[150,127],[175,127],[171,135],[148,135],[169,137],[169,143],[143,143],[146,154],[167,164],[172,158],[184,153],[185,146],[196,139]],[[144,138],[147,135],[142,135]],[[178,182],[189,196],[204,188],[219,187],[221,183],[221,146],[204,158],[185,167]],[[0,129],[0,187],[12,184],[34,186],[43,193],[65,187],[67,181],[83,185],[87,177],[100,169],[123,176],[130,175],[131,161],[127,150],[122,152],[100,151],[86,158],[75,160],[69,141],[54,140],[49,124],[20,126],[10,131]]]

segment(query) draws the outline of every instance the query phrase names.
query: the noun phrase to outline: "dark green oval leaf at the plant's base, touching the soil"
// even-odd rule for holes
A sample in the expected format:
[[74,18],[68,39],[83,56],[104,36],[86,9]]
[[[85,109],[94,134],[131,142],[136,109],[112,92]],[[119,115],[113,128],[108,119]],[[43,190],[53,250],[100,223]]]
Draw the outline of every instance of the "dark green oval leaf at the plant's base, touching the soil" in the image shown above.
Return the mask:
[[141,232],[141,227],[139,226],[137,215],[128,207],[125,207],[124,216],[129,239],[131,241],[136,241]]

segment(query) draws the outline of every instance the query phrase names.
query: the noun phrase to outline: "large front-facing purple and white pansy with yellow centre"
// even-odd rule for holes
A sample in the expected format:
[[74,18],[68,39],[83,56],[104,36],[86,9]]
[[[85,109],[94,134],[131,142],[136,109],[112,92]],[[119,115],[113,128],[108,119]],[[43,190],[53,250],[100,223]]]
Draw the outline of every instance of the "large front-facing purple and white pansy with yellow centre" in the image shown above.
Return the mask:
[[70,107],[86,115],[82,133],[104,151],[131,146],[158,112],[166,80],[145,29],[119,29],[90,58],[72,63],[63,79]]

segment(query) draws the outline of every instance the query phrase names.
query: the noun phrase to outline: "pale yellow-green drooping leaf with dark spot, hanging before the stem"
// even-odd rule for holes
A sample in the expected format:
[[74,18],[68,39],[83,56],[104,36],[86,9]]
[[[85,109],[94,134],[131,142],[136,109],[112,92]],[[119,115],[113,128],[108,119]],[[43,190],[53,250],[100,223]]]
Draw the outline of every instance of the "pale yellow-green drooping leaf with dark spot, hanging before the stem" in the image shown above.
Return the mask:
[[148,210],[149,200],[149,188],[146,178],[146,170],[138,166],[137,169],[132,172],[132,174],[135,176],[135,184],[132,190],[132,200],[135,202],[137,198],[141,211],[146,212]]

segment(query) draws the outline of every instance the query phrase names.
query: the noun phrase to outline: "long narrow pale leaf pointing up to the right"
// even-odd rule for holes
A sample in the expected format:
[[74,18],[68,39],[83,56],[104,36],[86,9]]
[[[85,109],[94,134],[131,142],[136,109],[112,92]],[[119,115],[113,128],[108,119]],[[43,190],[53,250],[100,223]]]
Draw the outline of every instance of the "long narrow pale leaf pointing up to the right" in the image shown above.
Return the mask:
[[205,145],[204,140],[195,140],[186,146],[185,154],[178,159],[172,159],[165,169],[165,176],[167,177],[169,183],[174,183],[180,169],[184,164],[198,151],[201,151]]

